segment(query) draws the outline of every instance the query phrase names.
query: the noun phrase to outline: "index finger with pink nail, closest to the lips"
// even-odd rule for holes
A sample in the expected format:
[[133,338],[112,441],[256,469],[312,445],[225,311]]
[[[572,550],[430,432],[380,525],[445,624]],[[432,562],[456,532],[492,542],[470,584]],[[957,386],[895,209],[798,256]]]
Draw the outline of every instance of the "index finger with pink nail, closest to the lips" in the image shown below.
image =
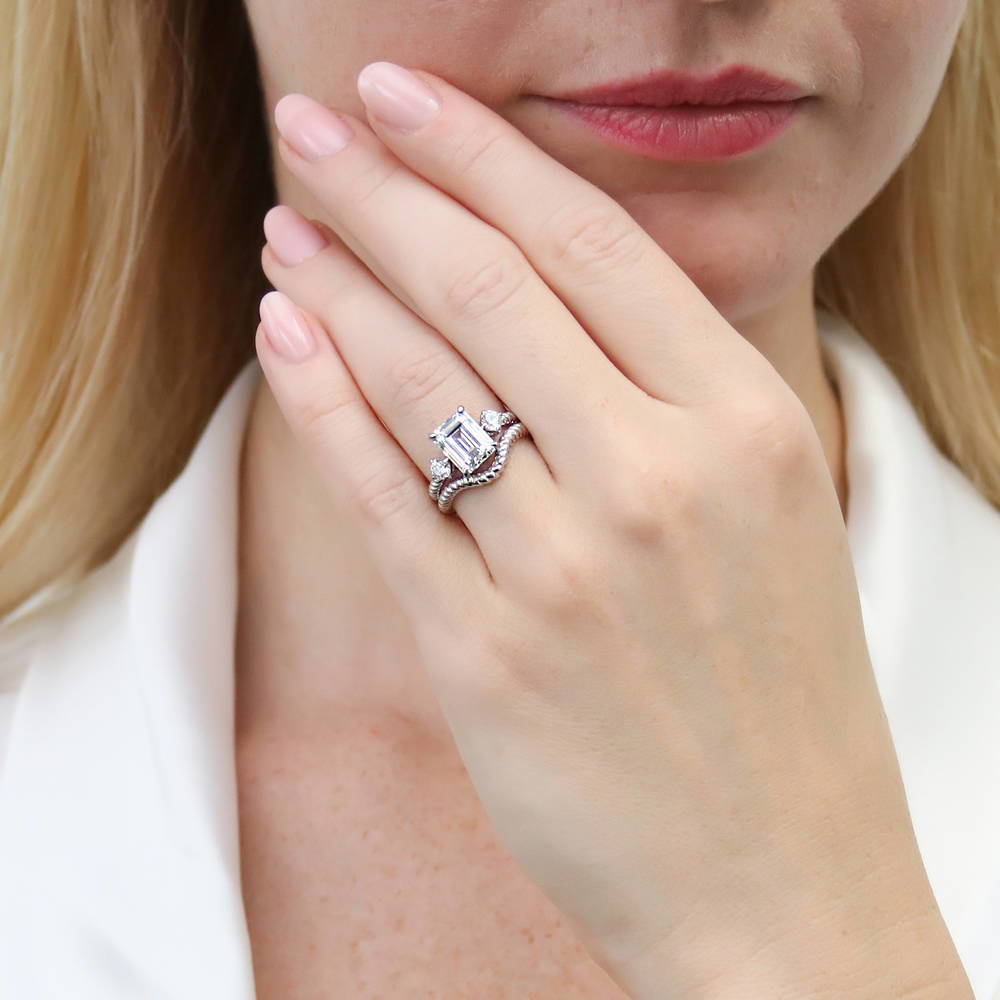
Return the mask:
[[[425,124],[408,77],[441,105]],[[375,62],[358,75],[368,122],[414,171],[512,239],[605,354],[654,398],[695,404],[746,384],[759,352],[610,195],[433,73]],[[408,95],[409,98],[408,98]],[[432,102],[425,99],[432,110]],[[770,373],[769,375],[766,373]]]

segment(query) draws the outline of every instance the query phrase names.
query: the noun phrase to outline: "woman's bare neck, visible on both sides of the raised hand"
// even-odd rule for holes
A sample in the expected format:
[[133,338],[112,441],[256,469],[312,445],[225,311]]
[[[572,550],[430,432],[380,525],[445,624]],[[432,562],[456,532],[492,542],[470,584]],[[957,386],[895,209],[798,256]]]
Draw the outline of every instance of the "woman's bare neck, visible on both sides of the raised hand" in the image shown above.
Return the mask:
[[[734,326],[802,400],[846,512],[842,416],[811,285]],[[262,379],[241,476],[238,732],[301,736],[371,713],[444,734],[407,622],[314,461]]]

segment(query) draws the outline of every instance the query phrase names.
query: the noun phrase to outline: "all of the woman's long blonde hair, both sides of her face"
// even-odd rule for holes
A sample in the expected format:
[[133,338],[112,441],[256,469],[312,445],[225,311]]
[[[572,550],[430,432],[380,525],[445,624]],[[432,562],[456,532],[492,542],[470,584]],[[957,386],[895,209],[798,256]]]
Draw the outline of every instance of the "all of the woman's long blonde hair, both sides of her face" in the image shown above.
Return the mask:
[[[242,3],[111,7],[0,4],[0,616],[128,536],[251,358],[269,287]],[[1000,506],[998,34],[996,5],[970,0],[925,128],[816,296]]]

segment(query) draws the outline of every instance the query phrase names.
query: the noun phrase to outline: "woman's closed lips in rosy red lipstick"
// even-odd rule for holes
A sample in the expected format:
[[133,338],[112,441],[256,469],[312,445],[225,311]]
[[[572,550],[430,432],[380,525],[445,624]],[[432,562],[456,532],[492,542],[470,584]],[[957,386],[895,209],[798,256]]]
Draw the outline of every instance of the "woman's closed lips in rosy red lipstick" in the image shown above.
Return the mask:
[[717,160],[777,138],[812,98],[750,66],[663,70],[543,99],[616,146],[658,160]]

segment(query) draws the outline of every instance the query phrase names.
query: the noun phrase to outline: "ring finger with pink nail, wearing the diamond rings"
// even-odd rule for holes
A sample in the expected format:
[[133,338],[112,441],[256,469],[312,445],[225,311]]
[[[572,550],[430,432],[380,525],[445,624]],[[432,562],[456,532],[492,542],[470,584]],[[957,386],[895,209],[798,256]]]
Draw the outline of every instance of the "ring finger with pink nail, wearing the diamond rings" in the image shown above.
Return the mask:
[[[481,410],[504,409],[503,401],[328,228],[321,231],[295,209],[278,205],[265,216],[264,233],[261,264],[268,279],[320,320],[372,409],[428,482],[430,459],[442,457],[429,431],[458,405],[477,419]],[[302,259],[304,247],[313,252]],[[322,401],[316,406],[321,409]],[[524,547],[547,523],[556,497],[530,436],[512,444],[507,461],[513,474],[505,467],[493,482],[461,490],[454,500],[491,567],[506,565],[496,557],[513,544]],[[434,501],[428,496],[427,502]]]

